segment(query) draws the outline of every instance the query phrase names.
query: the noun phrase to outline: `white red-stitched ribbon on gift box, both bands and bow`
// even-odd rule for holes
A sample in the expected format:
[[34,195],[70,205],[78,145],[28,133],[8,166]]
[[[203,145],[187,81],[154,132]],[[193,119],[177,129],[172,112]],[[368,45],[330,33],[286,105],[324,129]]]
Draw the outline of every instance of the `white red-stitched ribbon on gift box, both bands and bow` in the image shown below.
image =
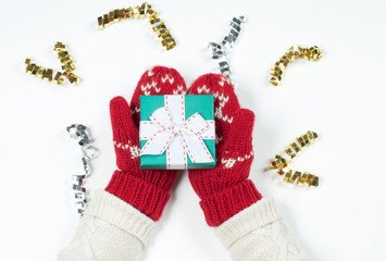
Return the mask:
[[[179,98],[180,97],[180,98]],[[176,99],[178,98],[178,99]],[[183,100],[183,96],[170,96],[170,107],[174,108],[177,101]],[[184,103],[184,102],[183,102]],[[185,112],[173,112],[167,107],[157,109],[151,115],[151,121],[140,122],[140,139],[148,139],[142,147],[140,154],[162,154],[166,150],[167,169],[186,169],[189,156],[192,163],[214,162],[213,157],[208,150],[203,138],[214,139],[214,122],[206,121],[199,113],[195,113],[185,121]],[[182,108],[184,110],[185,108]],[[173,117],[175,115],[175,119]],[[179,119],[179,115],[182,119]],[[179,158],[179,159],[172,159]],[[178,165],[174,165],[179,162]],[[171,166],[171,163],[172,166]]]

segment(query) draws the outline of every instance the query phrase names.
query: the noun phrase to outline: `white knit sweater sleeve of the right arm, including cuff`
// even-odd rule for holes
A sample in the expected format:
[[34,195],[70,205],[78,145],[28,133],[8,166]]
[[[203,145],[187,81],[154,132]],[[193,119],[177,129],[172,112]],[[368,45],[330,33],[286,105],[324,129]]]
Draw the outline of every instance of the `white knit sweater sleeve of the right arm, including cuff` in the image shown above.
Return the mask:
[[215,228],[234,261],[308,261],[288,235],[273,201],[263,198]]

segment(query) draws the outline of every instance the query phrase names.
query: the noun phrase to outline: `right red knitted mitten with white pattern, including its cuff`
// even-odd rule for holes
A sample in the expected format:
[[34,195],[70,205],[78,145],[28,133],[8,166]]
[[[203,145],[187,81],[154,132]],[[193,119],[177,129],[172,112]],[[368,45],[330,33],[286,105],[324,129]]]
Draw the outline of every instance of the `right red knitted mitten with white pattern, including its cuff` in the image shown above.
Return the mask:
[[254,114],[240,109],[232,83],[223,75],[200,76],[188,94],[214,96],[217,163],[214,170],[189,170],[189,179],[207,223],[219,226],[262,198],[248,179]]

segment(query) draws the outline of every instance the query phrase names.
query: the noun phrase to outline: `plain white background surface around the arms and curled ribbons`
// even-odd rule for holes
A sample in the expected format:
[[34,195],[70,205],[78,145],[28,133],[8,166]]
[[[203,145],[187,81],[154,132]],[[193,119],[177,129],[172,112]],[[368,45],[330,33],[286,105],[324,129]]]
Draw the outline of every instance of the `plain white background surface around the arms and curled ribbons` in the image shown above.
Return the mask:
[[[97,17],[139,1],[1,1],[0,7],[0,256],[55,260],[78,217],[70,178],[79,158],[66,136],[88,126],[100,154],[89,191],[115,169],[109,101],[127,99],[145,70],[161,64],[190,85],[217,72],[207,51],[235,15],[248,17],[231,65],[240,103],[257,114],[251,179],[274,198],[285,223],[312,260],[386,260],[385,11],[378,0],[153,1],[178,46],[161,51],[145,20],[98,30]],[[24,60],[59,69],[52,51],[70,48],[82,83],[55,86],[27,75]],[[317,45],[319,62],[297,61],[283,85],[269,84],[272,65],[295,44]],[[321,139],[294,169],[321,177],[316,189],[284,184],[266,172],[270,159],[311,129]],[[141,260],[229,260],[204,222],[183,173]]]

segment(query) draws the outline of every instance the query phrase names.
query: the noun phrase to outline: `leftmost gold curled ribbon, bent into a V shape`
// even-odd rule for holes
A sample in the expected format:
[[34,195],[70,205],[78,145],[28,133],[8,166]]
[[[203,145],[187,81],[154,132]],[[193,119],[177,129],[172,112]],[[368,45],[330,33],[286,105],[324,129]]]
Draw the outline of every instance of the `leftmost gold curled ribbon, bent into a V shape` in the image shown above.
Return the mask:
[[58,59],[62,64],[63,72],[54,73],[52,69],[45,69],[43,66],[39,66],[36,63],[32,63],[30,58],[26,58],[25,59],[26,73],[37,78],[41,78],[43,80],[54,83],[57,85],[63,85],[65,79],[69,79],[69,82],[72,85],[77,85],[80,77],[73,74],[75,70],[75,64],[69,53],[67,47],[63,42],[57,41],[54,44],[53,50],[58,53]]

